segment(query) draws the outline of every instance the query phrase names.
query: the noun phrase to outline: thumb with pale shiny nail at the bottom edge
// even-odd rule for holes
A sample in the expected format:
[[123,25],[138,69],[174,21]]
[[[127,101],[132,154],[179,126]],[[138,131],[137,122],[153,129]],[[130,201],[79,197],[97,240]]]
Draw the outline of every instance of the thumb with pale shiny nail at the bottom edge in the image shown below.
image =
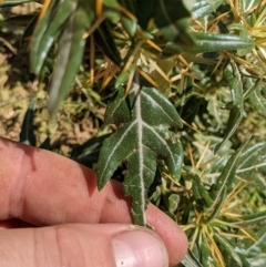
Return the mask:
[[1,266],[166,267],[158,236],[132,225],[66,224],[0,230]]

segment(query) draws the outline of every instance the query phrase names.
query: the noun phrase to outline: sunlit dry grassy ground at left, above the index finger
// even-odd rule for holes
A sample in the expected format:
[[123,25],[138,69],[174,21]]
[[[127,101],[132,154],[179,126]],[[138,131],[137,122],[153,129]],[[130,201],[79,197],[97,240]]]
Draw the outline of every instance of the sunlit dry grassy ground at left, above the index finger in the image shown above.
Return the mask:
[[[30,73],[27,48],[20,45],[22,30],[0,27],[0,136],[19,141],[30,100],[37,97],[33,124],[38,145],[50,136],[54,151],[68,156],[75,144],[108,131],[102,125],[104,105],[95,103],[90,90],[81,86],[76,78],[69,97],[51,121],[45,85]],[[88,73],[81,75],[85,80]]]

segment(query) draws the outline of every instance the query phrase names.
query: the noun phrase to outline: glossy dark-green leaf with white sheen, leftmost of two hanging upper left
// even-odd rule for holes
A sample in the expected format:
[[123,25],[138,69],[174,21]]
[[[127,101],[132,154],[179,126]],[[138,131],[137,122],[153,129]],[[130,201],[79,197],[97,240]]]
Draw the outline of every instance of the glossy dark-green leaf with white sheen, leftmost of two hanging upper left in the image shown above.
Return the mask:
[[31,68],[35,74],[40,73],[50,48],[61,33],[62,27],[74,11],[75,6],[75,2],[71,0],[53,1],[37,24],[30,50]]

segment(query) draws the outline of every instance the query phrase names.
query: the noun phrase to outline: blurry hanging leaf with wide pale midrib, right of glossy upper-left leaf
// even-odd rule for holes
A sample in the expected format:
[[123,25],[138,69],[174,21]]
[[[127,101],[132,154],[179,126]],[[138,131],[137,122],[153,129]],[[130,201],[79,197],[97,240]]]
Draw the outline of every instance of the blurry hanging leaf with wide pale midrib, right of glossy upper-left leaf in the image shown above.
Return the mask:
[[85,0],[79,1],[68,19],[59,40],[58,59],[50,84],[48,110],[54,114],[80,68],[84,52],[84,33],[94,20],[94,7]]

